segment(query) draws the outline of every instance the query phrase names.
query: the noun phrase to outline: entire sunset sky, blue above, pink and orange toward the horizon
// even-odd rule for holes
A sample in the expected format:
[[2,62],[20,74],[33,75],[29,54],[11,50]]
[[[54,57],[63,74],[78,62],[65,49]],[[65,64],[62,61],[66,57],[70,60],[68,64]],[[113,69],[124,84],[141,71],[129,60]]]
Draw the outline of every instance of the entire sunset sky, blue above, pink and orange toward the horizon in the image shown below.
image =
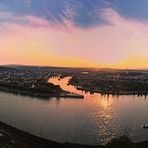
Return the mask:
[[148,0],[0,0],[0,64],[148,68]]

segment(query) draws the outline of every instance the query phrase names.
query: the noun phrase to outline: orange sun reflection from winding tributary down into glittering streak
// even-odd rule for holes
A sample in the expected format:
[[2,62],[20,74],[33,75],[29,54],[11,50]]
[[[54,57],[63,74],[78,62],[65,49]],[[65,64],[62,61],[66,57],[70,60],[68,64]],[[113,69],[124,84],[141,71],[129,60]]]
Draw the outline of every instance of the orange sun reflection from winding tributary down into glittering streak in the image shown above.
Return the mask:
[[[67,85],[70,78],[71,77],[65,77],[64,79],[59,79],[57,77],[53,77],[49,79],[49,82],[55,85],[60,85],[63,90],[84,95],[84,99],[87,100],[88,109],[90,107],[95,108],[95,110],[91,112],[92,114],[90,116],[95,121],[95,137],[98,137],[98,139],[96,140],[98,142],[107,142],[109,139],[113,138],[114,135],[118,133],[117,126],[113,126],[112,124],[113,117],[115,117],[115,113],[113,112],[114,99],[111,95],[101,96],[97,93],[86,94],[84,91],[77,90],[76,87],[72,85]],[[102,137],[102,139],[105,139],[106,141],[101,141],[99,137]]]

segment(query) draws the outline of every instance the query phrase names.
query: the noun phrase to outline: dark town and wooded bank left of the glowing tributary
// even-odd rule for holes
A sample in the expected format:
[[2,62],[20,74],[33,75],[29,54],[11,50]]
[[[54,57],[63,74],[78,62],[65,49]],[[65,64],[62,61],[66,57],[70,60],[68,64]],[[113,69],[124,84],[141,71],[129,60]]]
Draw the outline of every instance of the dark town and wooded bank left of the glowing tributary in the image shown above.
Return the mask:
[[62,92],[60,86],[48,83],[49,71],[0,68],[0,90],[15,94],[52,97]]

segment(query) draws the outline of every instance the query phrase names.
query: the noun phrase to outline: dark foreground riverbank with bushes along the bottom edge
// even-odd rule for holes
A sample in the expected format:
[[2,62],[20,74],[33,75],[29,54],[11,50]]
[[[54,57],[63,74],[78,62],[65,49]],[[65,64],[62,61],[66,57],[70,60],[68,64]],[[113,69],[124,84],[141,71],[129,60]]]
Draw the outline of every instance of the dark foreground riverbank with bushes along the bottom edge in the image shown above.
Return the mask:
[[112,139],[105,146],[58,143],[34,136],[0,121],[0,147],[2,148],[147,148],[148,140],[133,143],[128,137]]

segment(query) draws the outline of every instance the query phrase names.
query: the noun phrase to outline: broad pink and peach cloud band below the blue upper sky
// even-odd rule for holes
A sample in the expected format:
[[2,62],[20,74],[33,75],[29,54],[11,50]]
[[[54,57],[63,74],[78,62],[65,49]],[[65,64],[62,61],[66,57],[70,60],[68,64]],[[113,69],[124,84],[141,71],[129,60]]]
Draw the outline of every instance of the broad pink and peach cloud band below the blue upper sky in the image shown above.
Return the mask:
[[[102,9],[100,14],[111,25],[82,29],[65,19],[66,27],[61,29],[35,16],[25,16],[23,19],[28,22],[25,25],[5,23],[0,26],[0,30],[6,30],[0,36],[1,55],[10,58],[13,52],[14,57],[21,55],[26,59],[29,55],[24,52],[31,50],[31,55],[45,57],[49,65],[55,64],[58,58],[82,59],[84,65],[86,61],[90,65],[105,65],[118,64],[132,56],[148,55],[148,22],[125,18],[109,8]],[[6,14],[8,18],[9,15]],[[7,52],[4,53],[4,49]],[[53,57],[51,61],[49,57]]]

